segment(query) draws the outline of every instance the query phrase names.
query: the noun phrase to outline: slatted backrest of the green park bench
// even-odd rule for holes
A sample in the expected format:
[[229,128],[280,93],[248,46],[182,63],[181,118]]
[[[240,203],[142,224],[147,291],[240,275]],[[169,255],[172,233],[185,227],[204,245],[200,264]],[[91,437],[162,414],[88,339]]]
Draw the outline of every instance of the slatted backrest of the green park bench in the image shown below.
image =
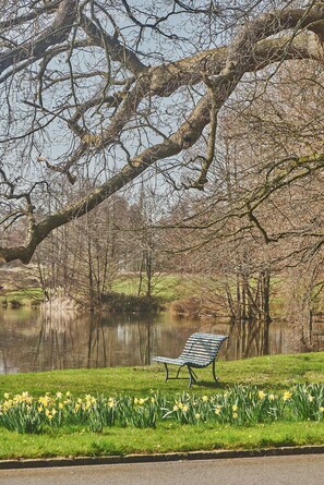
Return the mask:
[[224,340],[227,336],[214,334],[192,334],[185,342],[180,355],[183,360],[193,360],[202,364],[208,364],[216,359]]

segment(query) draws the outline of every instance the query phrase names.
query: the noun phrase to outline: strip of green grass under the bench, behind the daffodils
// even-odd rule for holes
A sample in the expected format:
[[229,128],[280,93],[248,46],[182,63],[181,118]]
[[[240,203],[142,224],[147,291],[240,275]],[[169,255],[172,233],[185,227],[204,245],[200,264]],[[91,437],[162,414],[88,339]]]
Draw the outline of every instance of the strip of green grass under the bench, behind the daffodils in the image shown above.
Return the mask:
[[[192,391],[208,395],[235,384],[283,390],[295,384],[324,383],[324,352],[218,361],[217,373],[220,381],[216,385],[212,381],[211,367],[197,371],[205,385],[193,386]],[[185,371],[182,375],[187,376]],[[177,393],[188,390],[188,380],[165,383],[164,377],[164,367],[157,365],[9,374],[0,375],[0,396],[22,391],[40,396],[58,390],[73,393],[147,393],[152,389]]]

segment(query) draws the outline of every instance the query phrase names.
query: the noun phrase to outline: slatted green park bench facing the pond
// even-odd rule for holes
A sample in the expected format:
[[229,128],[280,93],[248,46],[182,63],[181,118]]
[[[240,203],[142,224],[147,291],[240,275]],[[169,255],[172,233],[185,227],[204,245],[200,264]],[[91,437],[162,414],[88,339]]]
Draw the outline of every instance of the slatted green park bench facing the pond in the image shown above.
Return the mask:
[[[213,364],[213,376],[215,381],[217,381],[215,372],[216,357],[221,343],[227,338],[228,337],[224,335],[201,334],[201,332],[192,334],[187,340],[183,351],[181,355],[179,355],[179,357],[170,359],[170,357],[156,356],[153,360],[155,362],[160,362],[165,364],[166,380],[180,378],[179,374],[181,368],[183,366],[187,366],[189,372],[189,387],[191,387],[193,383],[197,381],[197,376],[194,373],[193,368],[203,368]],[[168,368],[169,364],[179,366],[176,377],[169,377],[169,368]]]

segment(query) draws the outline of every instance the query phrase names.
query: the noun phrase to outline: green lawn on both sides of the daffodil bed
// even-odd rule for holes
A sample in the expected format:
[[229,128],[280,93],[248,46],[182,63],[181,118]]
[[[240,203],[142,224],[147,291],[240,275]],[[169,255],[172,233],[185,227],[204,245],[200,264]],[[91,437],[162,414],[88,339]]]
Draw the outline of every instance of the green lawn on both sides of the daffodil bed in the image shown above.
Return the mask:
[[[254,357],[219,362],[219,385],[212,384],[211,369],[201,371],[204,385],[188,389],[187,380],[164,381],[160,366],[56,371],[0,375],[0,400],[5,392],[32,396],[46,392],[86,393],[107,397],[146,397],[165,392],[177,398],[211,398],[235,385],[256,385],[265,392],[283,392],[296,384],[324,383],[324,352]],[[324,404],[322,404],[324,405]],[[324,420],[262,423],[251,426],[205,422],[196,425],[158,422],[155,428],[111,426],[100,433],[85,426],[48,428],[39,434],[19,434],[0,427],[0,459],[107,456],[212,449],[260,449],[265,447],[324,445]]]

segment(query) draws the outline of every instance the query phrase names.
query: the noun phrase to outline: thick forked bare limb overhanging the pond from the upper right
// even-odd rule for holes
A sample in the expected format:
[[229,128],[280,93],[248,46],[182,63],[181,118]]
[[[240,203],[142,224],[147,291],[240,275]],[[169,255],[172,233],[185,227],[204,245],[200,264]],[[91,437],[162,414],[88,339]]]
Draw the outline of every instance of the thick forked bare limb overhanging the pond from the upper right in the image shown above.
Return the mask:
[[[61,7],[67,7],[68,4],[71,8],[75,7],[72,0],[62,2]],[[209,93],[203,96],[187,121],[179,126],[172,136],[145,149],[135,158],[128,160],[128,163],[118,173],[101,186],[94,189],[84,198],[69,205],[57,214],[45,217],[38,222],[33,218],[33,206],[29,204],[28,217],[29,220],[33,220],[33,223],[29,223],[25,244],[0,247],[0,257],[5,262],[21,259],[24,263],[28,263],[37,245],[53,229],[92,210],[125,184],[135,180],[153,163],[179,155],[183,148],[195,144],[205,126],[211,122],[211,119],[216,122],[217,112],[231,95],[244,73],[261,70],[275,62],[283,62],[289,59],[322,59],[323,52],[322,46],[317,41],[319,37],[307,31],[313,31],[319,36],[323,28],[323,21],[324,11],[317,8],[275,12],[264,16],[262,21],[256,20],[248,24],[228,48],[218,48],[167,65],[149,70],[145,69],[139,75],[134,87],[127,95],[120,109],[111,118],[110,124],[103,130],[98,146],[95,147],[97,151],[116,142],[120,131],[135,116],[136,108],[144,98],[170,96],[182,85],[194,85],[204,82],[204,80],[206,81],[206,78],[208,78],[207,84],[209,83],[213,86],[213,96]],[[71,14],[69,16],[69,25],[71,25]],[[87,24],[86,28],[93,28],[93,25]],[[291,35],[266,38],[287,29],[296,31]],[[64,35],[67,35],[67,32],[64,32]],[[94,33],[92,36],[94,37]],[[100,41],[105,44],[103,38]],[[39,44],[40,46],[43,46],[43,43]],[[242,52],[244,52],[244,56],[242,56]],[[142,68],[139,69],[139,71],[141,70]],[[213,113],[211,112],[212,109]],[[88,144],[83,141],[80,148],[75,150],[67,162],[67,170],[73,168],[73,163],[77,162],[88,151]],[[204,172],[205,178],[206,170]]]

